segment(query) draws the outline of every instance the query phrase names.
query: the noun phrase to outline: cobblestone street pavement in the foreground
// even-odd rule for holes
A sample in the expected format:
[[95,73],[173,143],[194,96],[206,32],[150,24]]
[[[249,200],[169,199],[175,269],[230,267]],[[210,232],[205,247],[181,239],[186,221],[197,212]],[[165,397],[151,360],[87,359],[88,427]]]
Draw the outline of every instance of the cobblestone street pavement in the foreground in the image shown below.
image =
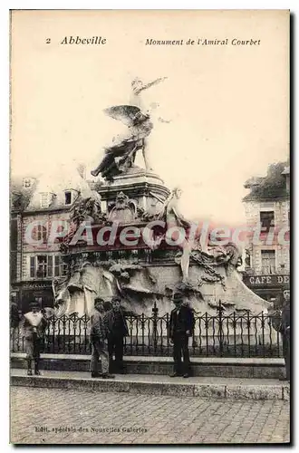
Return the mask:
[[283,400],[11,388],[11,441],[21,444],[289,442]]

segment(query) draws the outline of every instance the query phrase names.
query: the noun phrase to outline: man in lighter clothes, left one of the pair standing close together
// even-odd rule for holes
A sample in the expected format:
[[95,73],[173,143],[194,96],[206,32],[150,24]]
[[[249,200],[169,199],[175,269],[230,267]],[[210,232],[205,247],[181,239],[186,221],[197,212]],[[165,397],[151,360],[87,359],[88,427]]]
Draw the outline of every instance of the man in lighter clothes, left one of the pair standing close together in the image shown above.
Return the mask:
[[[91,317],[91,343],[92,378],[113,379],[115,376],[109,373],[109,355],[107,348],[107,330],[103,322],[104,301],[99,298],[94,301],[94,313]],[[99,358],[101,357],[101,373],[99,373]]]

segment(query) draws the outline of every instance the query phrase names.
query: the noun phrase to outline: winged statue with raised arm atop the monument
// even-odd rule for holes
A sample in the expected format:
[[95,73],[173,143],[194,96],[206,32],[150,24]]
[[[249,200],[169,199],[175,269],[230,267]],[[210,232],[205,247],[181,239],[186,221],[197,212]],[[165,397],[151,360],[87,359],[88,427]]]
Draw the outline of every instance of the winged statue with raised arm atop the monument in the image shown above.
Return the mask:
[[151,170],[147,155],[147,139],[153,129],[153,123],[150,120],[149,111],[144,111],[141,106],[140,92],[164,79],[165,77],[159,78],[146,85],[139,79],[135,79],[131,83],[131,105],[116,105],[104,110],[114,120],[121,120],[129,130],[124,136],[114,138],[111,146],[104,149],[105,155],[98,167],[92,170],[92,176],[98,176],[101,173],[102,178],[111,180],[124,173],[133,166],[136,152],[139,150],[142,150],[146,169]]

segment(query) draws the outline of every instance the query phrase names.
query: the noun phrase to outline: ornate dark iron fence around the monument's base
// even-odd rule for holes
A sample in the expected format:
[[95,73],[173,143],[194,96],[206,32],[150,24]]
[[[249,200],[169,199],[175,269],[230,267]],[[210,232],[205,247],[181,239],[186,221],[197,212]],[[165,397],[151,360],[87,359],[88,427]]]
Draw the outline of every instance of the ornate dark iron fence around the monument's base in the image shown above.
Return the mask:
[[[282,357],[283,342],[277,332],[277,315],[259,313],[194,313],[195,328],[189,341],[191,356],[199,357]],[[155,304],[151,315],[126,315],[129,336],[125,355],[172,355],[169,340],[169,313],[159,316]],[[43,335],[43,353],[90,354],[90,318],[76,313],[48,318]],[[12,329],[11,351],[24,352],[22,326]]]

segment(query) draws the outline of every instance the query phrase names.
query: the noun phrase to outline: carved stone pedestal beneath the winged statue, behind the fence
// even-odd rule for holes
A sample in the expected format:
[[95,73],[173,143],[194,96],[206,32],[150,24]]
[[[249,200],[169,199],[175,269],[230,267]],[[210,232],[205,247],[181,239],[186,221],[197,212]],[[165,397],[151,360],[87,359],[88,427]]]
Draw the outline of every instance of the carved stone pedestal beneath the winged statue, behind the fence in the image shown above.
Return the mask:
[[[234,245],[211,247],[208,254],[192,248],[188,275],[183,275],[183,246],[169,244],[166,231],[169,216],[178,226],[188,228],[188,222],[184,223],[175,205],[170,210],[175,193],[169,197],[169,188],[158,175],[132,167],[97,191],[102,217],[101,222],[92,224],[92,245],[82,240],[68,247],[66,256],[72,272],[62,294],[70,295],[61,305],[62,314],[64,308],[66,314],[91,314],[96,297],[110,301],[114,294],[121,294],[128,311],[150,316],[153,304],[157,304],[162,315],[172,310],[172,294],[178,285],[185,285],[184,298],[199,313],[216,314],[219,301],[226,313],[266,310],[268,304],[243,284],[237,272]],[[146,228],[150,220],[163,220],[164,226],[156,225],[154,230],[151,224]],[[116,230],[113,242],[107,238],[112,226]],[[154,236],[155,246],[145,240],[146,229]],[[137,239],[133,236],[133,241],[125,244],[121,240],[125,230],[134,230],[134,235],[137,231]],[[186,238],[185,242],[188,234]]]

